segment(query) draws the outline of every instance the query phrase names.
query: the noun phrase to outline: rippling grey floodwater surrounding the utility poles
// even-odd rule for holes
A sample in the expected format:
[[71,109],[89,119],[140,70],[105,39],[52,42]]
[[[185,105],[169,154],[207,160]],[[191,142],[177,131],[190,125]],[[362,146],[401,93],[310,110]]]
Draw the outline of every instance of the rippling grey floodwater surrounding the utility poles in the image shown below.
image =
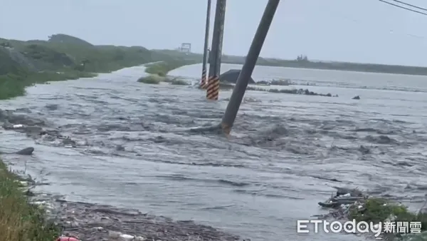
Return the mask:
[[[239,66],[222,71],[229,68]],[[171,75],[194,79],[200,72],[200,65],[184,66]],[[195,220],[260,241],[357,239],[296,231],[296,220],[325,212],[317,202],[333,186],[359,187],[411,207],[423,200],[426,76],[257,66],[256,81],[290,78],[315,85],[295,88],[339,97],[249,91],[227,140],[189,129],[219,123],[231,91],[208,102],[190,86],[137,83],[143,75],[144,67],[125,68],[34,86],[25,97],[0,102],[46,118],[79,143],[34,145],[3,131],[2,148],[36,148],[33,157],[4,159],[25,165],[51,183],[43,190],[68,200]]]

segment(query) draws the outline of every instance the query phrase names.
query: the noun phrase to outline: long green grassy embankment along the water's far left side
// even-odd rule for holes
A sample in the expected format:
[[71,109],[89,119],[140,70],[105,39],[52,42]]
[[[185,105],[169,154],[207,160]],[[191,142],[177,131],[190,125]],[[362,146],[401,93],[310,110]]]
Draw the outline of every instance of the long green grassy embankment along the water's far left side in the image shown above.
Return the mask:
[[171,63],[158,69],[165,71],[181,60],[140,46],[95,46],[64,34],[48,41],[0,39],[0,100],[22,96],[35,83],[93,77],[154,61]]

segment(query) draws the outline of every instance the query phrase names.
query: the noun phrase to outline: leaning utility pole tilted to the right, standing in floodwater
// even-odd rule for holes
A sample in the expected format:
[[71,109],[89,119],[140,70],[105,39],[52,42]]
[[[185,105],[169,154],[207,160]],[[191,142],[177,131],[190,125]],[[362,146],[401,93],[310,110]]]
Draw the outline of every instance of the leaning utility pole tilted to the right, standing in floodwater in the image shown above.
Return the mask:
[[248,51],[248,56],[246,56],[246,61],[243,64],[241,73],[238,75],[236,86],[234,86],[230,101],[228,101],[226,113],[224,113],[221,122],[221,128],[226,135],[230,134],[234,120],[236,120],[238,109],[241,106],[243,96],[245,95],[246,88],[248,87],[249,79],[253,73],[253,68],[255,68],[255,63],[258,60],[258,56],[260,56],[261,48],[263,48],[265,37],[268,34],[268,29],[270,29],[275,11],[279,6],[279,2],[280,0],[268,0],[267,6],[265,6],[263,17],[261,18],[258,29],[253,37],[251,48],[249,48]]

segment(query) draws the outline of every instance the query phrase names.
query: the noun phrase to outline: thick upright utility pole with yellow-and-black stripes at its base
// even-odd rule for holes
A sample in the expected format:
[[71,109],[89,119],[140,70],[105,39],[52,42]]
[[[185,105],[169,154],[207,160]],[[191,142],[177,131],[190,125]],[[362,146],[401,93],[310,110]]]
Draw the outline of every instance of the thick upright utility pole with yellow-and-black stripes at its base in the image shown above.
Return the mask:
[[213,101],[217,101],[219,96],[219,74],[221,73],[221,55],[225,18],[226,0],[216,0],[214,35],[212,36],[208,86],[206,87],[206,98]]

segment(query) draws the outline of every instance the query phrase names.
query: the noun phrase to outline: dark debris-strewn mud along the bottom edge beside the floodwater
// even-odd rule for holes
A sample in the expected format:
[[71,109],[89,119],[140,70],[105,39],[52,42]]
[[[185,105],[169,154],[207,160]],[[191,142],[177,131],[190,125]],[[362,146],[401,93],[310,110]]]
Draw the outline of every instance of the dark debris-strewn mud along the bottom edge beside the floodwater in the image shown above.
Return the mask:
[[[114,240],[115,233],[132,235],[139,240],[206,240],[232,241],[237,236],[220,232],[213,227],[193,221],[176,221],[138,210],[108,205],[57,200],[58,217],[63,234],[85,241]],[[116,234],[117,235],[117,234]]]

